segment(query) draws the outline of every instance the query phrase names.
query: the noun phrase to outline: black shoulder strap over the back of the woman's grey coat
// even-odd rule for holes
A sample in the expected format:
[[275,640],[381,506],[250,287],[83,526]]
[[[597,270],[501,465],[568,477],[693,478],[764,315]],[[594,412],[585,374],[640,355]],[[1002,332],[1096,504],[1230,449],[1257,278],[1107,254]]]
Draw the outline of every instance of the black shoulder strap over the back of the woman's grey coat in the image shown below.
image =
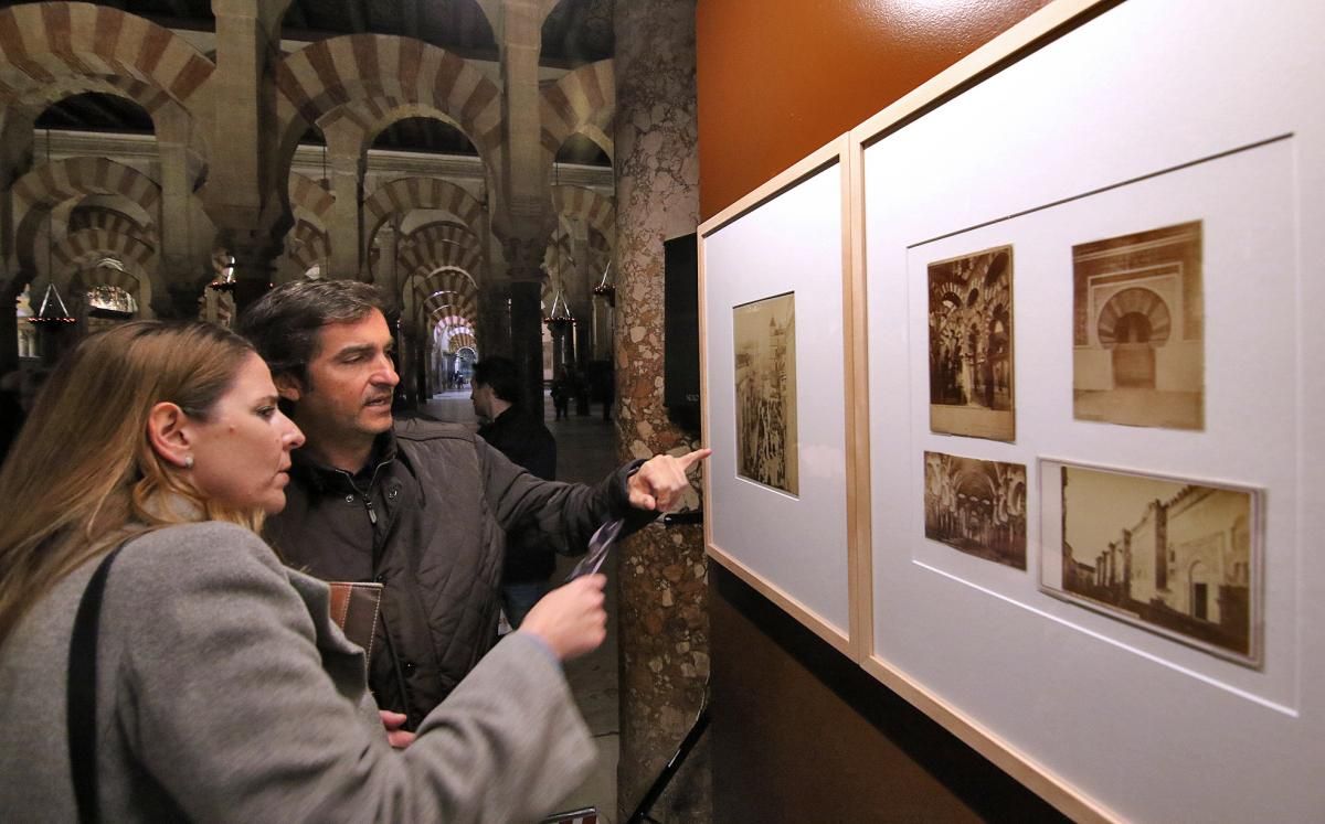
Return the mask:
[[69,766],[74,774],[74,800],[78,803],[78,820],[95,824],[97,811],[97,627],[101,624],[101,600],[106,591],[106,575],[110,564],[119,555],[119,544],[97,571],[91,574],[82,600],[78,601],[78,615],[74,617],[74,632],[69,639],[69,711],[65,726],[69,730]]

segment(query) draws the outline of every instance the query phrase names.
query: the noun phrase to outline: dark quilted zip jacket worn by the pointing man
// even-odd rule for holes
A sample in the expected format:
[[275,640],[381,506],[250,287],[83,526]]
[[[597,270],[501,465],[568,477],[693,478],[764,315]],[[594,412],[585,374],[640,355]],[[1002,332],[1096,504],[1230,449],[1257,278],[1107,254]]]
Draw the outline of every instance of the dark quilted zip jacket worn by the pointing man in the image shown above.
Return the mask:
[[384,584],[368,684],[412,729],[496,641],[506,530],[578,554],[606,521],[637,529],[652,513],[629,509],[636,465],[592,488],[541,481],[461,427],[403,421],[358,476],[295,452],[266,535],[297,570]]

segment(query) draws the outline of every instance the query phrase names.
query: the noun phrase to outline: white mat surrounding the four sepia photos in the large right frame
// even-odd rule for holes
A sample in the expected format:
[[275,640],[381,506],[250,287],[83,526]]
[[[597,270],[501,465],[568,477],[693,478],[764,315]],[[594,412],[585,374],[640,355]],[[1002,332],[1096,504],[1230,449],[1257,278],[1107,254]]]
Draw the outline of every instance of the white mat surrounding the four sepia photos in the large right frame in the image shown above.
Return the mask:
[[[1128,0],[864,150],[872,652],[1130,820],[1325,815],[1321,32]],[[1075,420],[1072,246],[1195,220],[1203,431]],[[1016,438],[934,435],[928,265],[1006,244]],[[1024,571],[925,538],[926,450],[1026,465]],[[1263,490],[1263,666],[1041,592],[1041,458]]]

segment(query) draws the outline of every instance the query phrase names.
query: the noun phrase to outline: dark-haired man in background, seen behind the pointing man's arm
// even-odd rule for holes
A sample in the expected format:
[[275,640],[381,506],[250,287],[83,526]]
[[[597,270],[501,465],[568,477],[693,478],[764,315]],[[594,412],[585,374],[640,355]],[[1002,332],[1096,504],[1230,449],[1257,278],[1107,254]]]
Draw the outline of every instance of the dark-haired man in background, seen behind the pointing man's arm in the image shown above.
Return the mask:
[[[556,440],[542,417],[527,413],[517,403],[519,372],[510,358],[485,358],[474,364],[474,388],[469,400],[484,420],[478,437],[545,481],[556,480]],[[502,609],[510,625],[519,628],[525,615],[543,597],[556,570],[556,555],[526,527],[506,535],[506,566],[502,571]]]

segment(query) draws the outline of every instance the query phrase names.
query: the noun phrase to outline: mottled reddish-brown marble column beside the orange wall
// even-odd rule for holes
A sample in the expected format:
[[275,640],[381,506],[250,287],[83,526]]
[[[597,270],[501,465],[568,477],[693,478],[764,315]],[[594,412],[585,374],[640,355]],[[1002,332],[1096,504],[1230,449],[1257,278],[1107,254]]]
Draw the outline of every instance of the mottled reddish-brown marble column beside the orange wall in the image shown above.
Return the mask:
[[[613,4],[616,40],[616,425],[621,458],[693,444],[662,407],[662,241],[698,223],[696,0]],[[698,506],[698,497],[689,503]],[[690,729],[709,680],[708,570],[700,527],[651,526],[620,560],[624,820]],[[653,807],[709,821],[706,739]]]

